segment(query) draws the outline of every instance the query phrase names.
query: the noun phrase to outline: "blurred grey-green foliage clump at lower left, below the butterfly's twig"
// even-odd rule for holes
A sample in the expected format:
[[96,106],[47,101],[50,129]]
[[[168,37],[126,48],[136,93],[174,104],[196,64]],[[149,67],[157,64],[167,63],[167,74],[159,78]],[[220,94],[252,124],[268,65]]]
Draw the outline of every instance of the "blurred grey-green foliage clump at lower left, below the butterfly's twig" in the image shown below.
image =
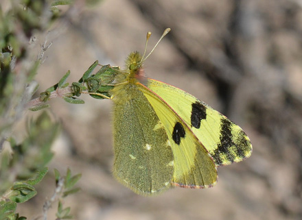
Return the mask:
[[47,163],[54,154],[54,142],[60,126],[53,123],[47,112],[28,122],[27,136],[22,143],[9,138],[12,153],[5,148],[0,154],[0,219],[17,219],[16,204],[34,195],[34,186],[47,173]]

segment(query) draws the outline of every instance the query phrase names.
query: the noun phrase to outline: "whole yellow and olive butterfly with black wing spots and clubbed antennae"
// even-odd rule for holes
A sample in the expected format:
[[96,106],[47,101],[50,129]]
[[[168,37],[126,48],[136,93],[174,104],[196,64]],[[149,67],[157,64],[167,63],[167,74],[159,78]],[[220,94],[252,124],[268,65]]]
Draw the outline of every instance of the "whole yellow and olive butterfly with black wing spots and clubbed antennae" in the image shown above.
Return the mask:
[[[163,36],[167,32],[170,29]],[[251,156],[251,141],[203,101],[146,78],[143,62],[155,48],[144,58],[146,47],[143,55],[130,53],[126,69],[117,71],[108,91],[114,102],[113,174],[141,195],[156,195],[173,186],[214,186],[217,167]]]

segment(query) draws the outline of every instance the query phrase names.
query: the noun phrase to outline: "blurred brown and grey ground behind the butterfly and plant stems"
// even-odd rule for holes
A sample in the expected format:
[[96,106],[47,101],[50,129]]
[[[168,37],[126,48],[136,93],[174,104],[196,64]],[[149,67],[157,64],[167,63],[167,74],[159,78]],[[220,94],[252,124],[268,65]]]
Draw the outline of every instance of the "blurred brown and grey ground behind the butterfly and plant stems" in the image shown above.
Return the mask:
[[82,173],[82,191],[65,201],[75,219],[302,219],[301,0],[104,0],[91,7],[76,1],[60,10],[69,10],[65,19],[36,36],[37,45],[52,42],[36,79],[39,92],[67,70],[69,82],[77,82],[95,60],[124,66],[128,53],[143,52],[148,31],[150,51],[170,27],[145,62],[146,74],[240,125],[253,154],[218,168],[213,188],[142,197],[111,173],[113,103],[85,95],[84,105],[54,99],[50,111],[62,122],[56,156],[38,195],[19,207],[22,215],[34,218],[54,192],[53,169],[70,167]]

